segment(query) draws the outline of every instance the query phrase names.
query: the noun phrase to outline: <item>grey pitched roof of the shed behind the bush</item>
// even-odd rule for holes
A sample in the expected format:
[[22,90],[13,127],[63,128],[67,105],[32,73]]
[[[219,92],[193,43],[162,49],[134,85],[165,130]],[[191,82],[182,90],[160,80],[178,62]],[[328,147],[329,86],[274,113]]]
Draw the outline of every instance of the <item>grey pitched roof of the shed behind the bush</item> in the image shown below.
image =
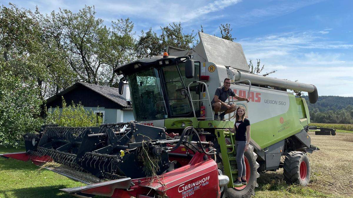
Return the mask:
[[94,92],[97,92],[98,94],[102,95],[103,97],[108,98],[109,100],[112,100],[113,102],[121,105],[122,107],[130,107],[127,105],[126,100],[120,98],[121,95],[119,94],[119,89],[114,88],[114,87],[108,87],[108,86],[101,86],[101,85],[94,85],[86,82],[76,82],[74,83],[71,87],[68,87],[64,91],[50,97],[47,99],[47,103],[50,103],[51,101],[54,101],[57,99],[60,95],[63,95],[67,92],[72,91],[73,89],[77,88],[79,85],[83,85],[89,89],[91,89]]

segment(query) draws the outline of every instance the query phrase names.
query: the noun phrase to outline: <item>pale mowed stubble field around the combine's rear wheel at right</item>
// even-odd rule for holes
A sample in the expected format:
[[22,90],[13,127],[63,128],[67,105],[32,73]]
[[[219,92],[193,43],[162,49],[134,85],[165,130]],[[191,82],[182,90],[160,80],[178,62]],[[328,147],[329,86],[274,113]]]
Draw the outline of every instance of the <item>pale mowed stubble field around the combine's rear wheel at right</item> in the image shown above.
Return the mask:
[[260,174],[255,197],[353,197],[353,133],[315,135],[311,144],[321,150],[308,154],[309,186],[286,185],[283,169]]

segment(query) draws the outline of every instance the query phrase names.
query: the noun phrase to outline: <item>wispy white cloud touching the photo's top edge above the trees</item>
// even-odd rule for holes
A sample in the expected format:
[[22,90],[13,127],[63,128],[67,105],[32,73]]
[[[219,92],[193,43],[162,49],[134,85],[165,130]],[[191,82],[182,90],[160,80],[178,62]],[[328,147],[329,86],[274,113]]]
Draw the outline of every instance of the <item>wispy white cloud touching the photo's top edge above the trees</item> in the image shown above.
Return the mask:
[[[221,11],[228,6],[241,2],[241,0],[218,0],[209,2],[179,1],[136,1],[136,2],[95,2],[99,11],[136,16],[143,19],[150,19],[154,23],[168,24],[171,22],[188,22],[205,19],[209,13]],[[219,17],[220,14],[208,16],[207,20]]]

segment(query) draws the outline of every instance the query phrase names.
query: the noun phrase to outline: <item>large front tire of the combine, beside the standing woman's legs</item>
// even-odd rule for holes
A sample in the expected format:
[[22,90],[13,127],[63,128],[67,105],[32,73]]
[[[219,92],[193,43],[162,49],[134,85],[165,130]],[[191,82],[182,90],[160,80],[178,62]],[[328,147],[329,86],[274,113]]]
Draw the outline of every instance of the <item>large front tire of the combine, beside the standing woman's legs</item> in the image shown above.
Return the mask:
[[222,198],[246,198],[255,195],[255,187],[258,187],[257,178],[260,174],[257,172],[259,163],[256,162],[257,155],[254,153],[254,147],[249,145],[249,149],[244,153],[247,185],[238,188],[225,188]]

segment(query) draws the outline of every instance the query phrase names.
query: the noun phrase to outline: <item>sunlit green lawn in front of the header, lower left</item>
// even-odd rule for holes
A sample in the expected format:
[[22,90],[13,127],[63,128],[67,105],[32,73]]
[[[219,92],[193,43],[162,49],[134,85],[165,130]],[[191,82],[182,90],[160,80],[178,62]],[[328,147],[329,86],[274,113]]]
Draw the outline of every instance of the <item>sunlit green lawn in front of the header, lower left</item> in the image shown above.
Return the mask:
[[[0,147],[0,153],[18,152],[24,149]],[[61,188],[83,186],[62,175],[46,169],[38,171],[31,161],[23,162],[0,157],[0,197],[70,197]]]

